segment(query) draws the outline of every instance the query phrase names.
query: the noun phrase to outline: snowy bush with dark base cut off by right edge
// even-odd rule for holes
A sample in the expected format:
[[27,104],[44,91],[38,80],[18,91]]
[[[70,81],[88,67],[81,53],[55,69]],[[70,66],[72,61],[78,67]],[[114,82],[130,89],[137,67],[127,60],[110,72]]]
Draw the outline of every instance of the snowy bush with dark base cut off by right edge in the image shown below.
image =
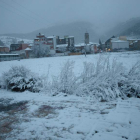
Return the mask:
[[119,82],[120,90],[128,97],[140,98],[140,62],[137,62]]

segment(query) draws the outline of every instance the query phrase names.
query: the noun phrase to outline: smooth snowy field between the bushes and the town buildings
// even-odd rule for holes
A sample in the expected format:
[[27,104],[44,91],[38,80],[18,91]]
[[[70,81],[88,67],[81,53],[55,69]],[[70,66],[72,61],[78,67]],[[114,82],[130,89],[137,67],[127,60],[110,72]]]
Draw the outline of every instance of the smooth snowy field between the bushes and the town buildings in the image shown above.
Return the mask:
[[83,69],[83,62],[91,62],[97,63],[100,55],[103,57],[110,57],[110,61],[114,58],[117,59],[118,62],[123,63],[123,65],[129,69],[131,68],[137,61],[140,61],[140,52],[121,52],[121,53],[103,53],[103,54],[92,54],[87,55],[78,55],[78,56],[61,56],[61,57],[46,57],[39,59],[22,59],[20,61],[5,61],[0,62],[0,76],[3,72],[8,71],[12,66],[25,66],[30,69],[32,72],[41,75],[47,75],[49,70],[50,78],[53,75],[58,75],[60,73],[61,67],[68,60],[74,61],[74,73],[76,75],[80,74]]

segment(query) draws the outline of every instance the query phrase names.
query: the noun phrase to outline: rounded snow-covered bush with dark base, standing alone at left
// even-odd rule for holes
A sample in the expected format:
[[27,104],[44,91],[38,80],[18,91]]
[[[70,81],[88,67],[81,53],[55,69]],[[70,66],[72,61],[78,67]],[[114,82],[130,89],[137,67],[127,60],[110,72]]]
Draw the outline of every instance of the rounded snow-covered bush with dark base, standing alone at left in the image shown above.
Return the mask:
[[12,91],[39,92],[42,87],[41,79],[23,66],[13,66],[8,72],[4,72],[3,83]]

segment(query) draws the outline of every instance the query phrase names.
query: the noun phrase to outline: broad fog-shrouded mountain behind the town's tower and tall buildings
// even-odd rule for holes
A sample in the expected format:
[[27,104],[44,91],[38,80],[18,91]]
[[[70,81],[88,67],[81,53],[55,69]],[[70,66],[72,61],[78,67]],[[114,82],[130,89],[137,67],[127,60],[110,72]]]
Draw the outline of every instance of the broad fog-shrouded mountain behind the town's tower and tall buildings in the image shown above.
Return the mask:
[[46,29],[39,29],[27,34],[3,34],[3,36],[18,37],[23,39],[34,39],[38,33],[45,34],[46,36],[58,35],[63,37],[64,35],[70,35],[75,37],[75,42],[84,42],[84,33],[89,33],[90,41],[97,40],[98,35],[94,31],[94,26],[89,22],[73,22],[63,25],[56,25]]

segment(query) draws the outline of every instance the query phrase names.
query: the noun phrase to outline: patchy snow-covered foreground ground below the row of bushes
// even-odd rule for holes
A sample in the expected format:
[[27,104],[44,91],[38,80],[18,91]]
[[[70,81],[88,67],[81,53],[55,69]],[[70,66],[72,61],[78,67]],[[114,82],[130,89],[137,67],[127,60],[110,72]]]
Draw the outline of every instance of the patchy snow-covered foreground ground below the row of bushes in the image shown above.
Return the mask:
[[[26,112],[17,112],[7,140],[140,140],[139,99],[96,102],[63,94],[0,92],[0,98],[29,101]],[[52,110],[47,115],[38,111],[42,105]]]

